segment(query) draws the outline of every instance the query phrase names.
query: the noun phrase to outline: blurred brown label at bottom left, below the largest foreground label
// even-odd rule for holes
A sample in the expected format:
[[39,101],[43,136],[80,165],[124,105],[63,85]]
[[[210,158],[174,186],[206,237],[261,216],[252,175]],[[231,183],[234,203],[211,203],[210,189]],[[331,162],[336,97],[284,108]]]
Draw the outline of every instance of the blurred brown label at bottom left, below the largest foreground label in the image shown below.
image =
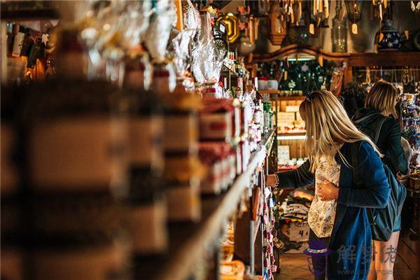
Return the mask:
[[38,251],[31,261],[35,280],[118,279],[127,263],[127,246]]

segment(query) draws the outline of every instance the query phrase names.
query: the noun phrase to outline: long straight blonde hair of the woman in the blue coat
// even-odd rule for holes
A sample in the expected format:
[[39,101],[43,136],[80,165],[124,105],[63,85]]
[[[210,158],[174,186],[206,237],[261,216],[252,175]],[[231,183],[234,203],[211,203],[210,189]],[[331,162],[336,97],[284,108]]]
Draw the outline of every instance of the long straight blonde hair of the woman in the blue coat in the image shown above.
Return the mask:
[[339,145],[344,142],[367,141],[380,155],[377,146],[353,125],[342,104],[328,90],[309,93],[300,104],[299,113],[307,130],[305,147],[309,153],[311,172],[315,172],[322,157],[332,160],[335,153],[349,166],[339,151]]

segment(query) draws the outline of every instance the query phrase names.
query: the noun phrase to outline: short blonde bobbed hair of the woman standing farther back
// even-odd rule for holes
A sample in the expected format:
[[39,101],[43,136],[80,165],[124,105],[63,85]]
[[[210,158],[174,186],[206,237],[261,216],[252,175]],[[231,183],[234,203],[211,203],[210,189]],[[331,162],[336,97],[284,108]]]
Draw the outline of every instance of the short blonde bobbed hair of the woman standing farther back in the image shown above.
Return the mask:
[[379,80],[367,93],[365,107],[391,113],[394,118],[398,118],[397,111],[395,111],[395,101],[398,99],[398,95],[398,90],[392,83]]

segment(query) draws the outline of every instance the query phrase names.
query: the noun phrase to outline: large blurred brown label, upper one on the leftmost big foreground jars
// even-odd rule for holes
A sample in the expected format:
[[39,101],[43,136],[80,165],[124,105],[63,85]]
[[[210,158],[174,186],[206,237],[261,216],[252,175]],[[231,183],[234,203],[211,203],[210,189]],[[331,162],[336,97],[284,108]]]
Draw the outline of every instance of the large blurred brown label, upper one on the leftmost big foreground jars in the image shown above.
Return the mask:
[[31,183],[43,190],[95,190],[118,185],[127,169],[127,123],[111,118],[66,118],[32,127]]

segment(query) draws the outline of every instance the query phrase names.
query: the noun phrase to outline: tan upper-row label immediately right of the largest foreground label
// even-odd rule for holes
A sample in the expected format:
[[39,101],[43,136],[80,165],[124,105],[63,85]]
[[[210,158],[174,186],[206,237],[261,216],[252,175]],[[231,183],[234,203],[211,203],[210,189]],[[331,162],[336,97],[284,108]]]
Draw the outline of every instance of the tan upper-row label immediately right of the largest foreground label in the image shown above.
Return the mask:
[[163,168],[163,118],[130,118],[128,125],[130,163]]

